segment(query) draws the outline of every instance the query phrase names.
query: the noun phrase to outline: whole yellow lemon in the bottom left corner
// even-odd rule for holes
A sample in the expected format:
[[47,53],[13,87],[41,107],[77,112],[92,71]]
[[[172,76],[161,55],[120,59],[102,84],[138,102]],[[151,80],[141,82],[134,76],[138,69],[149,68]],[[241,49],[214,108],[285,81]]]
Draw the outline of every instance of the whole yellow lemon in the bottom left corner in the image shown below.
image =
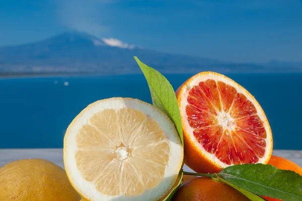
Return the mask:
[[0,200],[79,201],[65,171],[43,159],[24,159],[0,168]]

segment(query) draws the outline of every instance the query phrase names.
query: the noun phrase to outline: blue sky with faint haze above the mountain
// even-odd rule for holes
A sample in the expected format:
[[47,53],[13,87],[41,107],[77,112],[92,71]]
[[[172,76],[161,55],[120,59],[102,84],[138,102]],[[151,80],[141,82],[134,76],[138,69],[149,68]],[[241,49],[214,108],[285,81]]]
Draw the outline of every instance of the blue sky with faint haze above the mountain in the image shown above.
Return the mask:
[[78,30],[228,61],[302,61],[301,0],[2,0],[0,27],[0,46]]

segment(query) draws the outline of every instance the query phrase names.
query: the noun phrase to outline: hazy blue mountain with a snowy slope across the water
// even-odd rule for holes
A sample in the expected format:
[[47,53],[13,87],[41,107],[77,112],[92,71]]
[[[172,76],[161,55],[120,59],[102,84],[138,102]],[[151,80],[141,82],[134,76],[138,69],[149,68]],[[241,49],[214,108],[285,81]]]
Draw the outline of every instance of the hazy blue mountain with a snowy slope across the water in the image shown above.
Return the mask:
[[[302,63],[272,61],[232,63],[215,59],[162,53],[125,45],[108,45],[95,36],[69,32],[43,41],[0,47],[0,75],[18,74],[136,74],[133,56],[161,73],[265,73],[302,72]],[[284,66],[284,68],[281,68]]]

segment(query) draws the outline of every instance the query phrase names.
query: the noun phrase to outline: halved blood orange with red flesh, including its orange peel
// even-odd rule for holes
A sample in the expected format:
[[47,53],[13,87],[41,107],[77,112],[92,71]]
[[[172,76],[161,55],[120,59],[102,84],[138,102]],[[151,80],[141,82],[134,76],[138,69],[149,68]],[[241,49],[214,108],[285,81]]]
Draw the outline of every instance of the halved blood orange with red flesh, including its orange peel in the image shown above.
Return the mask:
[[272,133],[259,103],[223,75],[203,72],[176,92],[183,125],[185,163],[196,172],[218,172],[244,164],[266,164]]

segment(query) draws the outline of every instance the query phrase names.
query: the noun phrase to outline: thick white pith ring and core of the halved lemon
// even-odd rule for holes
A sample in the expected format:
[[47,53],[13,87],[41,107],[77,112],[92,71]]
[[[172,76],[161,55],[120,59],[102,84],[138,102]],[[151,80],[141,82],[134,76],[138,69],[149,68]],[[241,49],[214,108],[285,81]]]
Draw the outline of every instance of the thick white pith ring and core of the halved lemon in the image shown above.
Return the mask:
[[[78,151],[75,142],[75,136],[78,130],[85,124],[89,123],[89,119],[99,111],[104,109],[120,109],[130,108],[136,109],[147,116],[152,117],[162,128],[165,133],[167,142],[170,147],[169,162],[165,169],[165,175],[159,185],[152,189],[146,189],[143,193],[137,196],[117,195],[110,196],[100,193],[96,190],[93,183],[86,181],[79,171],[75,163],[75,152]],[[127,160],[131,153],[127,147],[121,146],[114,150],[116,158],[119,160]],[[161,111],[139,101],[130,98],[111,98],[102,101],[97,101],[84,109],[68,126],[64,138],[64,166],[68,178],[73,187],[81,193],[85,198],[93,200],[158,200],[173,186],[178,173],[180,171],[183,160],[183,147],[178,137],[177,131],[171,120]],[[105,185],[105,184],[104,184]]]

